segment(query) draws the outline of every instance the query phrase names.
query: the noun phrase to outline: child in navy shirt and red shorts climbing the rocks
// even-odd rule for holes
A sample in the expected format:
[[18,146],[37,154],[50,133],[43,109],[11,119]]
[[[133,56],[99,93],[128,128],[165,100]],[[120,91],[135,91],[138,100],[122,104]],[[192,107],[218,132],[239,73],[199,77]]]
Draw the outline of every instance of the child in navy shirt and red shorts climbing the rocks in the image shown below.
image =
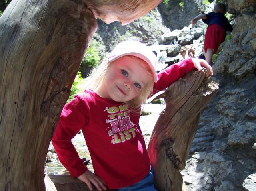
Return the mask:
[[197,20],[202,19],[208,25],[204,39],[204,56],[206,61],[212,66],[212,55],[217,53],[220,43],[224,42],[226,32],[232,32],[233,27],[225,16],[226,6],[224,3],[216,3],[213,12],[200,14],[191,20],[195,25]]

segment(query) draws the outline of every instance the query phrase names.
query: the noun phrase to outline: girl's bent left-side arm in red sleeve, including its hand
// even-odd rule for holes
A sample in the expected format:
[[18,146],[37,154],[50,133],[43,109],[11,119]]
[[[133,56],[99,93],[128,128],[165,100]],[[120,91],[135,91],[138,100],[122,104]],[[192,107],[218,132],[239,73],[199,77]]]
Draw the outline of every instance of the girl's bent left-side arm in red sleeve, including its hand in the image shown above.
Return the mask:
[[52,137],[52,144],[60,162],[68,169],[72,177],[77,177],[85,182],[90,190],[92,190],[93,184],[99,191],[102,191],[102,189],[106,190],[104,182],[87,169],[71,142],[87,120],[84,108],[84,104],[78,98],[74,98],[64,106]]

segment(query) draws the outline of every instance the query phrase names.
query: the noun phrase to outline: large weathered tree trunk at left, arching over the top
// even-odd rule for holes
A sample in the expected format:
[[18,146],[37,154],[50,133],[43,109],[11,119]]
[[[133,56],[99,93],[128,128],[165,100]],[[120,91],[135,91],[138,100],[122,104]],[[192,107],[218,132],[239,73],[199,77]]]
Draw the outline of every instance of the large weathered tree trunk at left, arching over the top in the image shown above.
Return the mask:
[[128,24],[162,0],[12,0],[0,18],[0,189],[45,190],[44,164],[96,18]]

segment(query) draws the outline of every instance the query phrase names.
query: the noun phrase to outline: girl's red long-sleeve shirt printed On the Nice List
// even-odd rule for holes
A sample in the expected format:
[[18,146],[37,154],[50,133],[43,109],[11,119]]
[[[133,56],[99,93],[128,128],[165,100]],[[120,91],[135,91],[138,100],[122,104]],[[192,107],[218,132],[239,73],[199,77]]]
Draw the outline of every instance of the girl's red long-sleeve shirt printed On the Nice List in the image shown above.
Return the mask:
[[[158,73],[154,92],[194,69],[192,59],[171,65]],[[93,163],[94,173],[109,189],[133,185],[150,171],[150,158],[139,126],[138,114],[126,105],[102,98],[92,90],[74,97],[62,110],[52,144],[62,165],[73,177],[86,170],[71,139],[82,130]]]

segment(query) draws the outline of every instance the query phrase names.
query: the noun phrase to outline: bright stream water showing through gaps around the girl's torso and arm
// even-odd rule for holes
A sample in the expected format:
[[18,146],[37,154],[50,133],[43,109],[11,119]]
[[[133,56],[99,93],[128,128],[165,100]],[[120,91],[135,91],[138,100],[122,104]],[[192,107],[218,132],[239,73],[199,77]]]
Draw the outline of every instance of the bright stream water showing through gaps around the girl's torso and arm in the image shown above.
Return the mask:
[[[148,146],[150,136],[156,121],[159,117],[160,112],[165,108],[165,104],[146,104],[144,106],[144,111],[151,112],[150,115],[145,115],[140,117],[140,128],[142,130],[146,146]],[[77,134],[73,139],[72,143],[74,144],[80,158],[86,158],[90,160],[90,163],[87,165],[88,169],[94,172],[92,167],[92,160],[84,140],[82,132]],[[46,168],[48,174],[57,174],[62,170],[65,170],[65,167],[58,160],[58,156],[55,153],[52,143],[48,148],[47,158],[46,158]]]

